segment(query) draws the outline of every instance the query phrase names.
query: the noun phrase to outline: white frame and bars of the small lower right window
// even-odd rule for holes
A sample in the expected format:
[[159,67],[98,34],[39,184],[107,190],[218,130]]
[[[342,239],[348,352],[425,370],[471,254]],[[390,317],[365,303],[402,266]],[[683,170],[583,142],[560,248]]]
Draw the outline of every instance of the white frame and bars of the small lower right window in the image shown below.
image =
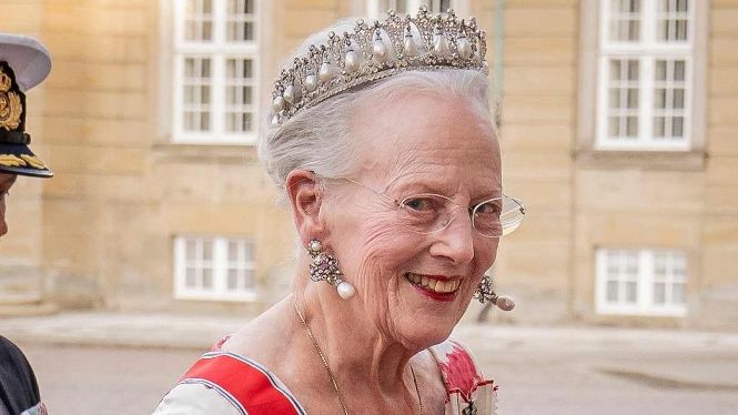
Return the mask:
[[[628,251],[637,254],[637,291],[635,303],[611,303],[607,300],[607,257],[611,252]],[[595,303],[597,314],[616,315],[646,315],[646,316],[675,316],[684,317],[687,315],[687,304],[685,303],[654,303],[654,284],[656,282],[655,256],[656,253],[671,253],[684,255],[685,257],[685,281],[684,295],[686,297],[686,287],[689,280],[689,264],[684,251],[659,250],[659,249],[598,249],[596,252],[596,284]]]

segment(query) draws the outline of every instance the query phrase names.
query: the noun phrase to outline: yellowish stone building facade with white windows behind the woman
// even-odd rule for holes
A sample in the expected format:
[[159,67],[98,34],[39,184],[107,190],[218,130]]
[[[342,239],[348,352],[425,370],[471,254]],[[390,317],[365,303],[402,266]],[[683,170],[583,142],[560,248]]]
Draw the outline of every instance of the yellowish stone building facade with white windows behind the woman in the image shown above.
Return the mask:
[[[254,148],[275,69],[340,18],[421,2],[3,3],[2,31],[53,57],[28,130],[55,176],[8,201],[0,312],[280,298],[295,236]],[[738,327],[738,1],[424,2],[487,30],[527,205],[495,265],[518,307],[494,317]]]

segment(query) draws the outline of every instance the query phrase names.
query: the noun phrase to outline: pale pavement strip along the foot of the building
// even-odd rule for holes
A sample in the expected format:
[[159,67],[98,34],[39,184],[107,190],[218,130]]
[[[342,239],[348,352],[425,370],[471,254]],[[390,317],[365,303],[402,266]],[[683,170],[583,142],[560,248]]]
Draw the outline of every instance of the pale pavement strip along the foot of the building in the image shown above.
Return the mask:
[[[235,332],[243,322],[243,318],[212,315],[63,312],[0,317],[0,334],[23,344],[206,351],[223,335]],[[502,354],[515,354],[526,360],[527,356],[556,354],[582,361],[620,354],[685,354],[696,357],[676,365],[638,362],[627,370],[628,375],[635,373],[635,376],[675,384],[738,391],[738,362],[725,363],[725,356],[738,355],[738,333],[462,323],[454,336],[483,360]],[[711,357],[721,363],[699,364]]]

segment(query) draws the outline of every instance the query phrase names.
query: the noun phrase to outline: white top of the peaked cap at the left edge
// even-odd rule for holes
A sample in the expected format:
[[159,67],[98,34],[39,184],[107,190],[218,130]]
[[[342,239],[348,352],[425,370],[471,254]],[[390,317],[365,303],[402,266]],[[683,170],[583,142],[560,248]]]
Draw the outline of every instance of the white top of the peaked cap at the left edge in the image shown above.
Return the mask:
[[47,48],[27,36],[0,33],[0,61],[10,64],[23,92],[41,83],[51,71]]

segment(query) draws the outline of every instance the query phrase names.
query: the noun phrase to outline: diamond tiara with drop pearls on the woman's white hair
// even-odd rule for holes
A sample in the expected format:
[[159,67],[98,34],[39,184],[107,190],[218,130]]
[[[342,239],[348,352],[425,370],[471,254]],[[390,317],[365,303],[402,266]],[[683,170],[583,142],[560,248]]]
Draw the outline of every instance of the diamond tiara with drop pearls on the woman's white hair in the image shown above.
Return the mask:
[[350,88],[404,71],[472,69],[489,72],[486,34],[474,18],[457,19],[453,10],[433,14],[421,7],[416,17],[393,10],[372,26],[356,21],[353,32],[328,33],[324,44],[311,44],[274,82],[272,126],[301,110]]

